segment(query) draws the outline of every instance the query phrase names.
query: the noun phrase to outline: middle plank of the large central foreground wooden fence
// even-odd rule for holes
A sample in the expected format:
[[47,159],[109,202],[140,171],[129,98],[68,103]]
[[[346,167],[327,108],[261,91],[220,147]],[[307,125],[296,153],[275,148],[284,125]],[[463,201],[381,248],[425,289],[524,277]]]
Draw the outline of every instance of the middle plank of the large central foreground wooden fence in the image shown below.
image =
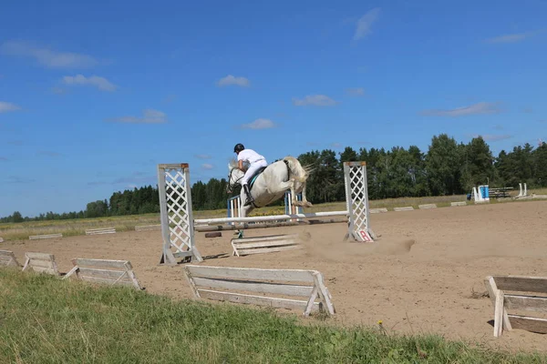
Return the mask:
[[297,286],[282,283],[253,282],[232,279],[193,278],[196,288],[224,288],[249,292],[273,293],[286,296],[310,297],[313,286]]

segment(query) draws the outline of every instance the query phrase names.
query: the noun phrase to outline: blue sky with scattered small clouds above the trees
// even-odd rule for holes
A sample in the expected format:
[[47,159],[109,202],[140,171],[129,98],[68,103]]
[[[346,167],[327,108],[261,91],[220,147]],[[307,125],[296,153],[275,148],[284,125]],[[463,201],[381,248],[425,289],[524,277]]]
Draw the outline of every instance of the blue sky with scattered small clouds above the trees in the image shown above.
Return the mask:
[[0,216],[343,147],[547,140],[547,2],[5,2]]

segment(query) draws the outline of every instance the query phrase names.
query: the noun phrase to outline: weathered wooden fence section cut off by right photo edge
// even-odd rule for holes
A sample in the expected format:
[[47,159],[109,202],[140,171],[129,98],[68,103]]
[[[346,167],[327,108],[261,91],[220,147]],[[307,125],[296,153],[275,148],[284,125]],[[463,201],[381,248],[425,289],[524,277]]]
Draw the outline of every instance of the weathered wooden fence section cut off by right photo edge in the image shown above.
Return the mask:
[[488,276],[484,279],[484,285],[494,306],[494,337],[501,337],[504,329],[525,329],[547,334],[547,319],[507,313],[508,309],[547,312],[547,297],[508,293],[514,291],[545,294],[547,277]]

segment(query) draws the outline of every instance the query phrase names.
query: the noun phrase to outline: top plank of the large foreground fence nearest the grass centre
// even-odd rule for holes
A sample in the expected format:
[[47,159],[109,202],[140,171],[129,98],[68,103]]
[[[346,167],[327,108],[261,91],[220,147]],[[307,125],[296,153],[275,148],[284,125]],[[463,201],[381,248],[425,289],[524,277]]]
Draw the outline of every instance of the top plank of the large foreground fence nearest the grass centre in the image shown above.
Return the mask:
[[234,278],[283,280],[286,282],[314,283],[312,274],[316,270],[304,269],[263,269],[263,268],[228,268],[186,265],[184,267],[191,277]]

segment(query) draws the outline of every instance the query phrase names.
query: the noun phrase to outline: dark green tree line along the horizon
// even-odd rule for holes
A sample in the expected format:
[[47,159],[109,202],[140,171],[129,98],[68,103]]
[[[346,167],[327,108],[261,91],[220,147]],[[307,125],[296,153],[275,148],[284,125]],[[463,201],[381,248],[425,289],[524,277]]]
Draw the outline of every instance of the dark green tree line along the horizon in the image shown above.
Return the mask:
[[[547,143],[534,148],[530,144],[501,150],[492,155],[489,145],[481,137],[468,144],[458,143],[446,134],[433,136],[427,151],[416,146],[370,148],[358,150],[346,147],[336,155],[334,150],[314,150],[298,156],[304,166],[314,168],[307,184],[307,197],[312,203],[343,201],[344,162],[366,161],[369,199],[397,197],[448,196],[470,193],[472,187],[547,187]],[[198,181],[191,186],[192,208],[195,210],[226,207],[232,195],[226,192],[225,178]],[[276,205],[282,205],[280,200]],[[108,217],[160,212],[158,187],[146,186],[115,192],[107,200],[89,202],[86,210],[58,214],[47,212],[37,217],[22,217],[15,211],[0,222],[30,220]]]

